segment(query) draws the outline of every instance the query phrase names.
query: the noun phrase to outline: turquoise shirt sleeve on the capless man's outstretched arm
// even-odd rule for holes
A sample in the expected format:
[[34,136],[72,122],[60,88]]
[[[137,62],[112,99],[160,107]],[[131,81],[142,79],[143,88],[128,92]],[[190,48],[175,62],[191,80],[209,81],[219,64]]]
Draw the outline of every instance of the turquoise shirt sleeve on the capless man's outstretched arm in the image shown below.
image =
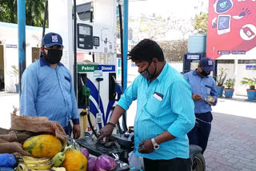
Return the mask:
[[138,94],[138,77],[134,80],[134,82],[125,90],[122,94],[120,100],[118,101],[118,105],[122,107],[122,109],[129,109],[132,101],[137,99]]

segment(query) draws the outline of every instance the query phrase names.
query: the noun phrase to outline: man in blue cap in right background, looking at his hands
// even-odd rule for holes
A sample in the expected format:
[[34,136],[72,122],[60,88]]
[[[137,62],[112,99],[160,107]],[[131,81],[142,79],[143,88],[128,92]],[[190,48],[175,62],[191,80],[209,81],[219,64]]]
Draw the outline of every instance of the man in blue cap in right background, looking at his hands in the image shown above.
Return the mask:
[[217,90],[214,78],[210,76],[210,71],[214,70],[214,63],[210,58],[202,58],[198,64],[198,69],[184,74],[192,88],[192,98],[194,100],[194,113],[198,124],[188,133],[191,145],[199,145],[202,153],[206,150],[210,135],[211,105],[217,103]]

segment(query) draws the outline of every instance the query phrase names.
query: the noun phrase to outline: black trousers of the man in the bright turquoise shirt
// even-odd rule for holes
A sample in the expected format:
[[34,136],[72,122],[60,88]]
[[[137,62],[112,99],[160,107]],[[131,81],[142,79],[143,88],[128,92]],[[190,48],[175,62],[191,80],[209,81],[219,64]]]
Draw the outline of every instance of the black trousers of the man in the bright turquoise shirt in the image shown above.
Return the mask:
[[151,160],[143,158],[145,171],[190,171],[190,159]]

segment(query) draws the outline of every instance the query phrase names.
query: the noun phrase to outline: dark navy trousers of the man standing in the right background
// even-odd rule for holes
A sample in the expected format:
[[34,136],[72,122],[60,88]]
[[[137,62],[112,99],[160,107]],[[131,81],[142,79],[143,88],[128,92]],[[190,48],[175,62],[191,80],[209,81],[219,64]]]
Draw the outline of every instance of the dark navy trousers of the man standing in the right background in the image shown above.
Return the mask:
[[198,124],[194,126],[190,133],[187,134],[190,140],[190,145],[198,145],[202,148],[202,153],[206,150],[208,143],[211,121],[213,120],[213,115],[210,112],[206,113],[195,113]]

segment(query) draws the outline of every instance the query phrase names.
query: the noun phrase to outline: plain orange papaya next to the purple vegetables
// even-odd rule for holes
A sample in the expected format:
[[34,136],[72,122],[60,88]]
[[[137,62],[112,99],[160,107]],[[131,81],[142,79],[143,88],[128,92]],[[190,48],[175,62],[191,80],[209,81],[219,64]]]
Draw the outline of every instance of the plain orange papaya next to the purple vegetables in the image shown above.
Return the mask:
[[66,171],[86,171],[87,158],[77,149],[66,150],[62,166]]

